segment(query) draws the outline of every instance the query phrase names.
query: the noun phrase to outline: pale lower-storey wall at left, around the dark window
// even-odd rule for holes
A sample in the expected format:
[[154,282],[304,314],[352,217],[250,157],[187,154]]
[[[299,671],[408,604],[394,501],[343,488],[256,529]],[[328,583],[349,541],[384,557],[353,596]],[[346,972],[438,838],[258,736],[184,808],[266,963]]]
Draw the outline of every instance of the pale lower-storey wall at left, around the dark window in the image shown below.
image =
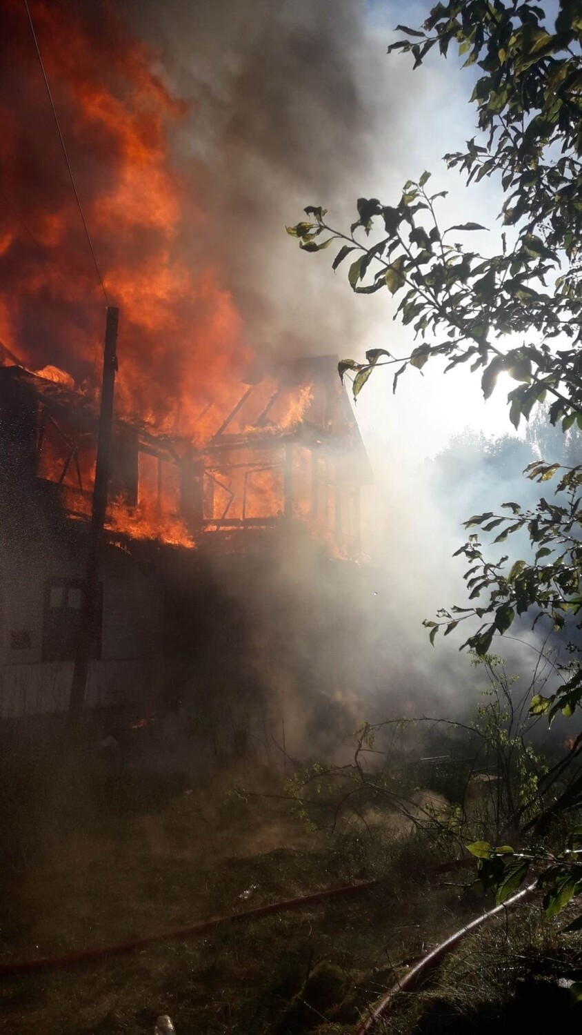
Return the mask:
[[[47,581],[84,573],[83,538],[66,546],[45,530],[4,543],[0,571],[0,718],[64,711],[72,660],[42,660]],[[163,591],[121,550],[102,565],[101,656],[90,662],[88,708],[148,707],[162,689]]]

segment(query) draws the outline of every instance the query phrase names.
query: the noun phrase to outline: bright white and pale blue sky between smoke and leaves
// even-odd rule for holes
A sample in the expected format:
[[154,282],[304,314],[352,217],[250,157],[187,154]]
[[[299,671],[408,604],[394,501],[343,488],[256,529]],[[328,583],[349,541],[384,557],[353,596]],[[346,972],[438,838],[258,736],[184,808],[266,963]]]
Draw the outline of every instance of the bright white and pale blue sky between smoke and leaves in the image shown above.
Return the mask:
[[[415,28],[429,7],[426,2],[403,4],[397,0],[388,3],[368,0],[368,3],[369,46],[380,48],[382,53],[391,38],[395,38],[391,30],[397,23],[404,21]],[[466,188],[462,177],[455,170],[448,172],[441,160],[445,152],[462,149],[465,141],[476,135],[476,110],[468,105],[474,73],[460,71],[455,48],[451,50],[447,61],[435,54],[413,73],[412,84],[417,89],[408,99],[403,98],[408,108],[405,128],[398,139],[392,139],[377,125],[377,152],[368,177],[369,196],[394,204],[405,180],[418,179],[428,169],[433,174],[434,190],[450,191],[441,203],[445,225],[472,219],[492,228],[491,234],[470,235],[471,246],[485,250],[495,246],[498,234],[495,216],[500,207],[499,186],[486,180]],[[382,89],[389,96],[394,91],[394,77],[401,76],[406,71],[405,65],[411,64],[410,57],[405,55],[393,54],[384,60],[386,79],[373,84],[376,96]],[[409,328],[392,321],[395,309],[392,299],[380,293],[355,298],[355,303],[373,306],[375,312],[371,324],[369,312],[368,319],[363,321],[365,339],[358,343],[353,358],[361,358],[370,348],[386,348],[393,354],[409,353],[412,335]],[[508,390],[514,385],[509,378],[504,384],[500,379],[492,397],[485,402],[479,374],[470,375],[460,367],[443,377],[441,371],[442,366],[436,362],[425,366],[424,377],[410,369],[400,379],[396,395],[392,393],[394,368],[378,371],[362,391],[356,409],[364,438],[371,434],[384,439],[398,449],[402,460],[415,463],[434,455],[465,427],[483,431],[488,436],[515,434],[506,402]]]

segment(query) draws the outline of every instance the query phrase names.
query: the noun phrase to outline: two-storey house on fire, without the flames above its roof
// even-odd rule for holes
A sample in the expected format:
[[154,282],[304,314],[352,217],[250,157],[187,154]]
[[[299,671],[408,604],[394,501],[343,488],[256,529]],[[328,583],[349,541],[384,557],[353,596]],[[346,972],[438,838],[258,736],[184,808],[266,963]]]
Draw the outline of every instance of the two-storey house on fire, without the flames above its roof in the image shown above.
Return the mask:
[[[370,471],[335,365],[297,360],[239,383],[227,407],[207,407],[196,444],[114,421],[87,707],[145,714],[178,693],[216,699],[225,682],[250,700],[262,677],[242,657],[267,625],[289,637],[281,558],[299,543],[305,558],[308,542],[310,571],[315,556],[334,570],[358,559]],[[95,402],[66,375],[0,367],[2,717],[67,708],[97,426]],[[302,593],[312,626],[319,609]]]

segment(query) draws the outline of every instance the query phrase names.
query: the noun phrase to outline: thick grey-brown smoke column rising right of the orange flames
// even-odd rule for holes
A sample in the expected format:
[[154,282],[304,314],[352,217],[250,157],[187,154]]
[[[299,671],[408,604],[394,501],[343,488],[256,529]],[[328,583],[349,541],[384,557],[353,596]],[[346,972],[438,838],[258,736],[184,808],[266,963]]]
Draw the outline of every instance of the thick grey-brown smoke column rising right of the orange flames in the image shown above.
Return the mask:
[[[358,348],[372,307],[284,233],[308,204],[336,225],[377,187],[376,135],[398,139],[408,69],[387,79],[364,0],[134,4],[173,90],[192,98],[175,136],[206,221],[188,242],[215,257],[259,357]],[[358,304],[360,302],[360,304]],[[377,313],[377,309],[376,309]]]

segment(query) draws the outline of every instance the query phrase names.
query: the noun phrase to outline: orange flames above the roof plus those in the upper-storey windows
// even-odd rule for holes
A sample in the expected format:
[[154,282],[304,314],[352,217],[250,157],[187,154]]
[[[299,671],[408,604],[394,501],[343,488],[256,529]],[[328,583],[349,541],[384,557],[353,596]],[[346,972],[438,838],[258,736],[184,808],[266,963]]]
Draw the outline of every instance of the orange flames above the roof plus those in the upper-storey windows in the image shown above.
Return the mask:
[[[191,447],[219,435],[293,432],[313,403],[310,384],[241,382],[252,352],[217,260],[198,244],[212,212],[196,196],[201,169],[180,170],[173,138],[191,110],[153,67],[158,56],[130,35],[123,5],[34,0],[32,14],[103,286],[120,306],[116,414]],[[9,60],[0,66],[0,362],[96,395],[103,297],[84,234],[21,0],[3,0]],[[74,443],[60,419],[42,424],[37,474],[57,482],[73,515],[90,512],[94,442]],[[83,436],[82,436],[83,439]],[[64,443],[64,445],[63,445]],[[206,527],[224,519],[273,521],[285,510],[283,450],[242,455],[207,471]],[[193,546],[180,513],[178,466],[139,454],[137,499],[116,498],[116,535]],[[324,529],[300,466],[290,510]],[[157,465],[154,467],[152,465]],[[331,493],[331,490],[330,490]],[[330,506],[333,506],[330,504]],[[288,508],[287,508],[288,510]],[[330,511],[331,512],[331,511]],[[329,524],[329,522],[328,522]]]

